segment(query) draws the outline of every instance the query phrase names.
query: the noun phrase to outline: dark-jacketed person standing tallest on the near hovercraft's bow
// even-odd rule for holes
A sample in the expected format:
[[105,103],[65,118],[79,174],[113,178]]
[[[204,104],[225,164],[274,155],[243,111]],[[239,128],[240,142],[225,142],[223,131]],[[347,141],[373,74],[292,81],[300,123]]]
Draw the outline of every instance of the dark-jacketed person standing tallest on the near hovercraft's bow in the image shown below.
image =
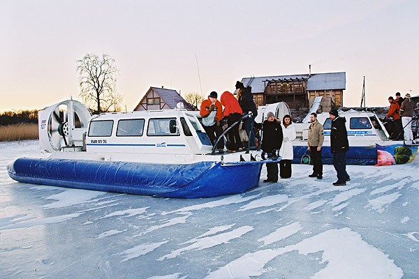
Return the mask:
[[243,113],[253,113],[251,117],[246,117],[244,119],[244,127],[246,128],[247,136],[249,137],[250,149],[256,150],[256,137],[253,131],[253,124],[256,116],[258,115],[258,110],[256,109],[255,102],[253,101],[251,87],[244,87],[244,84],[239,81],[236,82],[235,87],[237,89],[237,99],[239,100]]

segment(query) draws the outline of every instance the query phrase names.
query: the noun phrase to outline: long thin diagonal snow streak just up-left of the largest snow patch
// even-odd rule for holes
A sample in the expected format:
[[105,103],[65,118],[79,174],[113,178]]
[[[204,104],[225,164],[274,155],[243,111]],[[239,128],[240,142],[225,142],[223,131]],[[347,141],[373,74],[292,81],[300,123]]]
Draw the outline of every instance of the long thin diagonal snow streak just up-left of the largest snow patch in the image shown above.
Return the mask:
[[243,227],[238,227],[237,229],[233,229],[230,232],[224,232],[222,234],[216,234],[213,236],[198,238],[196,239],[196,242],[191,244],[190,246],[173,250],[172,252],[170,252],[170,254],[161,257],[159,261],[162,261],[163,259],[175,258],[181,255],[183,252],[186,252],[189,250],[203,250],[203,249],[211,248],[211,247],[221,245],[224,243],[228,243],[230,240],[238,239],[243,234],[247,234],[248,232],[251,232],[253,229],[254,227],[252,226],[243,226]]

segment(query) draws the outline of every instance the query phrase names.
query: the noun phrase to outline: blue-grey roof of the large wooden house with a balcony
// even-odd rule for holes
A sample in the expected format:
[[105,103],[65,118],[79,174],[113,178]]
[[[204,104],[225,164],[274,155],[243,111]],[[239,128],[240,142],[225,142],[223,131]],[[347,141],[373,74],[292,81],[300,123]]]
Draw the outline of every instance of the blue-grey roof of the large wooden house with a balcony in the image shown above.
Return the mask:
[[309,75],[272,75],[268,77],[244,77],[244,86],[251,86],[251,93],[263,93],[265,91],[266,80],[296,80],[306,79],[307,91],[314,90],[333,90],[346,89],[346,73],[319,73]]

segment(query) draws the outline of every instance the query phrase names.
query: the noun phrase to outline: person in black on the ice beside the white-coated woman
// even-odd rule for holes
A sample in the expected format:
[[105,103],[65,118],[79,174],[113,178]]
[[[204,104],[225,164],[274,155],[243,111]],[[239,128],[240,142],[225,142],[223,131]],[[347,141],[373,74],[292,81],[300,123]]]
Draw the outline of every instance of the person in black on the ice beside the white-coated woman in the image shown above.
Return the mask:
[[[274,150],[281,149],[283,134],[281,121],[276,119],[273,112],[266,114],[267,119],[263,121],[262,150],[266,153],[272,153]],[[267,179],[263,182],[278,181],[278,163],[267,163]]]

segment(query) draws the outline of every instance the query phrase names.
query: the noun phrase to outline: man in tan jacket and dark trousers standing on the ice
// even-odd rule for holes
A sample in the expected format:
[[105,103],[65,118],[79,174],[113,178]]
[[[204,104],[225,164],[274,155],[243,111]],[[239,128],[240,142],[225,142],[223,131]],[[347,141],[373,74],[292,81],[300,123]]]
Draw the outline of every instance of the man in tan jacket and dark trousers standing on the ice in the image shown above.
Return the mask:
[[309,137],[307,140],[308,149],[313,162],[313,173],[309,177],[323,179],[323,162],[321,160],[321,147],[325,140],[323,126],[317,120],[316,112],[310,114]]

